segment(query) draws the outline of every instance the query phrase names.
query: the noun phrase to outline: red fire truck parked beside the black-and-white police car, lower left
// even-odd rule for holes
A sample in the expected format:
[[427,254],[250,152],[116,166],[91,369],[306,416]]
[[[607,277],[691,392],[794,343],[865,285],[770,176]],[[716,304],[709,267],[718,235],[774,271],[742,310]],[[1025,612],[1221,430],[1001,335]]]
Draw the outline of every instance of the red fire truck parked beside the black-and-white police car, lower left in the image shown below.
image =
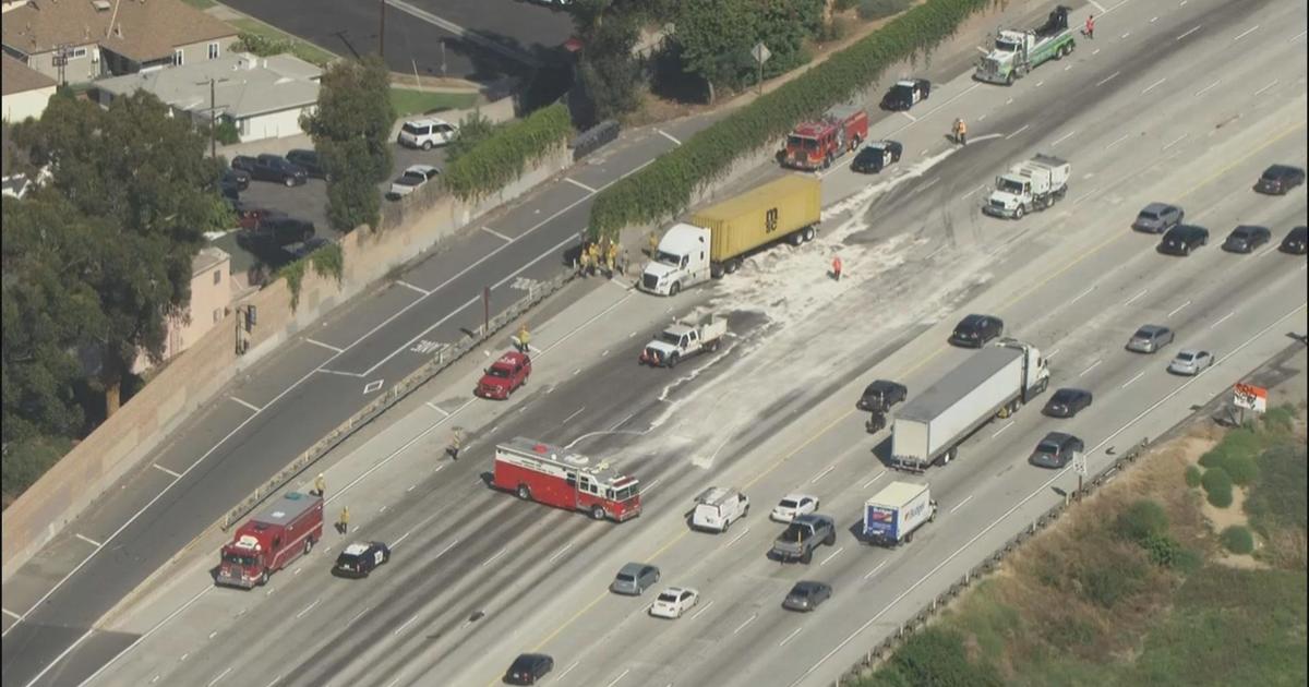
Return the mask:
[[309,554],[322,537],[322,497],[284,493],[232,535],[232,543],[223,547],[215,581],[245,589],[262,585],[268,574],[285,568],[301,554]]

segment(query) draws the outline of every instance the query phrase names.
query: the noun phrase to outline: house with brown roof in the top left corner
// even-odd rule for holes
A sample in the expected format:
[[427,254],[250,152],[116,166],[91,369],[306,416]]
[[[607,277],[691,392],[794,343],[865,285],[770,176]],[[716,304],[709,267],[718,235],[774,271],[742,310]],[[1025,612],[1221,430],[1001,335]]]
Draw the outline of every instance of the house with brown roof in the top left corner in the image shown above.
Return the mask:
[[219,59],[237,30],[181,0],[4,1],[4,52],[59,84]]

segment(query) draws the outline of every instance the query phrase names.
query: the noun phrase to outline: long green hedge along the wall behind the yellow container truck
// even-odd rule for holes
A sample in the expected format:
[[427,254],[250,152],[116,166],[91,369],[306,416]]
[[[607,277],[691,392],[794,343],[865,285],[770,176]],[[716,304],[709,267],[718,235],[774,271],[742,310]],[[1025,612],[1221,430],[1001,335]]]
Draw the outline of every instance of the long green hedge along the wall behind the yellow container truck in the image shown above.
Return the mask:
[[924,54],[994,0],[928,0],[809,73],[784,84],[610,186],[590,208],[592,238],[615,238],[628,225],[662,221],[690,205],[691,194],[750,154],[847,102],[899,60]]

